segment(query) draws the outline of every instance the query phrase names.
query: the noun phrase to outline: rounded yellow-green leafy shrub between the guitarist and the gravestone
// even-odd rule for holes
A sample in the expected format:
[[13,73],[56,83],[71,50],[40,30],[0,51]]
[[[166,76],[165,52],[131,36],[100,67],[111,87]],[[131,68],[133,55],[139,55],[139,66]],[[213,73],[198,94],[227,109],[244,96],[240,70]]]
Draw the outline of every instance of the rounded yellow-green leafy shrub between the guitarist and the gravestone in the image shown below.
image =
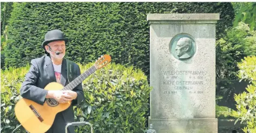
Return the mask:
[[[91,65],[81,67],[82,71]],[[150,89],[141,70],[112,63],[87,78],[83,88],[86,102],[75,108],[76,121],[92,123],[94,132],[142,132],[145,128]]]

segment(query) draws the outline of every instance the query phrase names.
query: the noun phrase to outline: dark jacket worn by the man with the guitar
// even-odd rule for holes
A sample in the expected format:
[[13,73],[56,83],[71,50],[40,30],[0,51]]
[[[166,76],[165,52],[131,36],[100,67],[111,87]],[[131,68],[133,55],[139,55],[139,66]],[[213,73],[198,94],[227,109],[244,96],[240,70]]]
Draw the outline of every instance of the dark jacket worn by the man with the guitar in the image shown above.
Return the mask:
[[[75,79],[81,75],[81,72],[79,66],[76,63],[73,62],[73,66],[73,79]],[[51,58],[49,56],[43,56],[41,58],[32,59],[30,70],[25,76],[25,81],[23,82],[20,89],[21,96],[43,105],[45,96],[47,95],[47,90],[44,90],[44,87],[51,82],[56,82]],[[66,60],[63,59],[61,66],[61,84],[65,86],[68,83],[67,64]],[[82,84],[78,84],[77,87],[73,89],[73,91],[77,92],[77,98],[72,101],[71,106],[67,110],[59,112],[56,115],[52,127],[47,132],[64,133],[65,125],[67,123],[74,122],[74,110],[72,105],[79,104],[84,100]],[[69,126],[69,132],[73,133],[74,127]]]

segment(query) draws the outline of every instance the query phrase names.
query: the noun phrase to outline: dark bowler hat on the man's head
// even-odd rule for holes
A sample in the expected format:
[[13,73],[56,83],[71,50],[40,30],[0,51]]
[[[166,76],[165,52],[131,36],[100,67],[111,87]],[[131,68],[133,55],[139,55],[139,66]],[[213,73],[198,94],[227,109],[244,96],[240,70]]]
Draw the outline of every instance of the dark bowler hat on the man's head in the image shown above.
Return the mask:
[[45,34],[44,41],[42,43],[42,47],[45,50],[44,46],[47,45],[50,42],[54,41],[65,41],[65,43],[68,42],[68,38],[65,38],[64,34],[60,30],[51,30],[48,31],[47,34]]

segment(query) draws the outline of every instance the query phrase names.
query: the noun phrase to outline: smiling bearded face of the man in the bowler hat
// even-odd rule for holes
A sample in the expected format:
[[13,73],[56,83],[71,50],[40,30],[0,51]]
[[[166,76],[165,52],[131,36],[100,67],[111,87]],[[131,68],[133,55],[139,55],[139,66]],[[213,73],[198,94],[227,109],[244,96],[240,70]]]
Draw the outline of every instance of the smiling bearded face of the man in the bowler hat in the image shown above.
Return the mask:
[[[54,41],[50,42],[48,45],[51,47],[52,51],[47,45],[45,45],[45,49],[50,53],[51,57],[54,57],[55,59],[62,59],[65,56],[65,41]],[[57,55],[55,52],[60,52],[60,54]]]

